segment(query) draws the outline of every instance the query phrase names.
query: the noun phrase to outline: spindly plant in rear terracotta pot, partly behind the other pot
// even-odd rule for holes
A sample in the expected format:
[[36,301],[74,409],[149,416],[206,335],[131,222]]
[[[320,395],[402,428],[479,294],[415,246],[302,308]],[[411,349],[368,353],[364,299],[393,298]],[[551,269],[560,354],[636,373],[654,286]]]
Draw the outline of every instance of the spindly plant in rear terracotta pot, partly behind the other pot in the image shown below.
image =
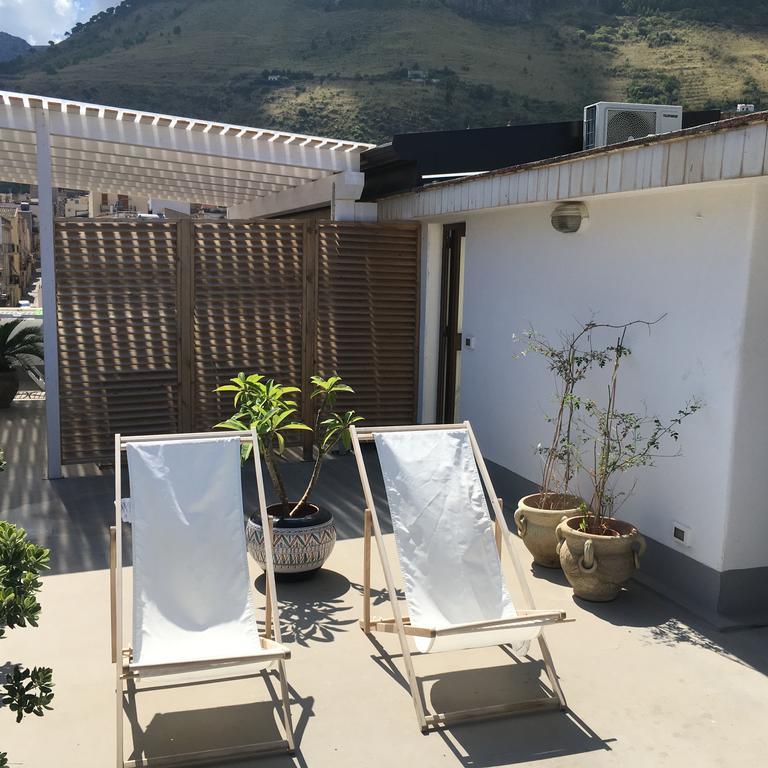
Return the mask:
[[572,434],[578,405],[575,393],[592,366],[602,367],[608,360],[606,350],[592,347],[592,331],[599,327],[592,321],[584,323],[575,333],[561,333],[559,344],[550,343],[533,329],[523,334],[526,348],[521,356],[528,352],[541,355],[556,381],[555,415],[547,417],[552,437],[549,445],[536,448],[542,466],[539,490],[523,496],[515,511],[518,535],[533,561],[546,568],[560,567],[555,530],[563,518],[578,514],[582,503],[573,491],[578,467]]

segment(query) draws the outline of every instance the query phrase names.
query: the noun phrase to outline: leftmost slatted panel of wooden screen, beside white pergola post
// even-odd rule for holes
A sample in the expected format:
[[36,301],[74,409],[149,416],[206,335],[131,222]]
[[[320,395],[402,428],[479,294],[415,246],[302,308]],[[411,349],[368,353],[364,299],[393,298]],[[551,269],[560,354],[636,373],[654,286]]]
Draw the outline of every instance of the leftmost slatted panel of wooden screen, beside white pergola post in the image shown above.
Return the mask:
[[178,426],[176,225],[58,221],[62,461]]

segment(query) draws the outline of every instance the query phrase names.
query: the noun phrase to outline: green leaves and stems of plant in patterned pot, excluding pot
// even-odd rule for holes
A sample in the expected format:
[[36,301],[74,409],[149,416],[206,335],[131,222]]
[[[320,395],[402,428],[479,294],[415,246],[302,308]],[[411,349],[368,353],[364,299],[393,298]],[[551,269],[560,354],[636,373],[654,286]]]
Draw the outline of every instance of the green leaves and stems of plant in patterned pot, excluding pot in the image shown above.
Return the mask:
[[[301,390],[277,384],[273,379],[266,379],[260,374],[246,376],[239,373],[228,384],[218,387],[216,392],[232,392],[235,413],[216,425],[220,429],[255,430],[259,438],[259,451],[264,457],[270,479],[275,487],[283,514],[287,517],[299,516],[309,502],[320,476],[320,469],[325,457],[341,442],[349,448],[349,427],[362,421],[355,411],[338,413],[334,410],[336,398],[340,393],[352,393],[352,388],[344,384],[340,376],[312,376],[310,397],[318,403],[314,429],[299,420],[299,406],[296,401]],[[307,487],[299,501],[291,506],[285,489],[280,460],[285,453],[285,434],[291,430],[314,432],[316,449],[315,463]],[[250,455],[251,446],[244,445],[242,455]]]

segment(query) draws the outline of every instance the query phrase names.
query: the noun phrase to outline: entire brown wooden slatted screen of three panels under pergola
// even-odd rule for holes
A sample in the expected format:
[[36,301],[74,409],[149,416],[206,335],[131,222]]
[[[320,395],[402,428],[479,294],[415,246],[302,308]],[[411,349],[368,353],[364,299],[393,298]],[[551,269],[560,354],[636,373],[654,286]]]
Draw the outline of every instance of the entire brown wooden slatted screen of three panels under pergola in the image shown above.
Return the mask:
[[338,371],[369,423],[415,420],[418,225],[62,220],[56,274],[65,464],[210,429],[240,370]]

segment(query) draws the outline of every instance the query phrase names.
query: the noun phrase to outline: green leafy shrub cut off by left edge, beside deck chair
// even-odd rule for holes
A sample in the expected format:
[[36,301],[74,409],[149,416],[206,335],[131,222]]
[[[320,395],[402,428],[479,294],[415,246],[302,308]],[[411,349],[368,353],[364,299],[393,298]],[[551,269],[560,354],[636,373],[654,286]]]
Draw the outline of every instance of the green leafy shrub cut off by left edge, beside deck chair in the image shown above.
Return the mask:
[[[5,458],[0,449],[0,471]],[[8,629],[37,626],[42,587],[40,572],[49,567],[50,551],[27,540],[24,529],[0,520],[0,638]],[[41,717],[51,709],[53,673],[48,667],[28,669],[13,666],[5,676],[0,700],[16,714],[19,723],[25,715]],[[8,765],[8,756],[0,752],[0,768]]]

